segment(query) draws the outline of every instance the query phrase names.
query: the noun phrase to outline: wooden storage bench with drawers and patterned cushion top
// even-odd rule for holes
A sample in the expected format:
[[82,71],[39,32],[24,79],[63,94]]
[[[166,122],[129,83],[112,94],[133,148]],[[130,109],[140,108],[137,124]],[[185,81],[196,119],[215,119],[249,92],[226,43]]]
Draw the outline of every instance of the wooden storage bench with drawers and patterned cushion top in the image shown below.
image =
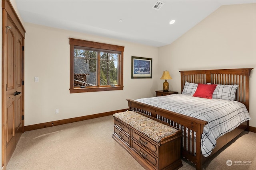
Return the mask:
[[115,113],[114,138],[145,169],[176,170],[182,167],[182,131],[132,110]]

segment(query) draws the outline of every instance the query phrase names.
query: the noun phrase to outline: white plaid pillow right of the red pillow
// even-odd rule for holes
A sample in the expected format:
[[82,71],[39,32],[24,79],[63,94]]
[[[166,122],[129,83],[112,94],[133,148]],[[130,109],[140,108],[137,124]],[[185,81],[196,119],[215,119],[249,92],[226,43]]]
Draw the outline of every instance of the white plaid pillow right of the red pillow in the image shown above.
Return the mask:
[[212,94],[212,98],[234,101],[236,97],[237,88],[238,88],[237,84],[233,84],[233,85],[218,84]]

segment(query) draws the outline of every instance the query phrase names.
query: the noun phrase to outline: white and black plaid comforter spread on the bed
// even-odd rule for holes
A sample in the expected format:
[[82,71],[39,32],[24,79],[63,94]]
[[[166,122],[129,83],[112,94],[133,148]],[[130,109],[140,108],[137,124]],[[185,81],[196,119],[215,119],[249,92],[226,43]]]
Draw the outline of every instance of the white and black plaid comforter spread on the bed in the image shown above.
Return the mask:
[[208,121],[201,137],[201,150],[205,157],[211,154],[218,137],[251,119],[244,104],[237,101],[205,99],[185,94],[142,98],[135,101]]

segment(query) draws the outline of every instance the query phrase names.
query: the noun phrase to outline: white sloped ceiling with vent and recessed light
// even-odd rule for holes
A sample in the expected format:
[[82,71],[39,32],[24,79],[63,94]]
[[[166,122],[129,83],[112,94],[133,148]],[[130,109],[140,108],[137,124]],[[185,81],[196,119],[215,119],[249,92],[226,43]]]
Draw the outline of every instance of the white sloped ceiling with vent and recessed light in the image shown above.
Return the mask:
[[[222,5],[256,0],[16,0],[24,22],[160,47]],[[122,19],[122,22],[119,20]],[[170,25],[171,20],[176,20]]]

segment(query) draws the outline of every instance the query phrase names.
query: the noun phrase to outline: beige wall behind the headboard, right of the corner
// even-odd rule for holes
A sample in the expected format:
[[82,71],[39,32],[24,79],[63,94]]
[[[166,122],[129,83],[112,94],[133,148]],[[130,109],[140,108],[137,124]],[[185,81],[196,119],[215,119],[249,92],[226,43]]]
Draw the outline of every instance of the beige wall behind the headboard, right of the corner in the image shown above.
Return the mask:
[[[222,6],[158,51],[159,68],[170,71],[170,88],[179,92],[179,70],[254,68],[250,76],[250,126],[256,127],[256,4]],[[158,87],[161,85],[159,82]]]

